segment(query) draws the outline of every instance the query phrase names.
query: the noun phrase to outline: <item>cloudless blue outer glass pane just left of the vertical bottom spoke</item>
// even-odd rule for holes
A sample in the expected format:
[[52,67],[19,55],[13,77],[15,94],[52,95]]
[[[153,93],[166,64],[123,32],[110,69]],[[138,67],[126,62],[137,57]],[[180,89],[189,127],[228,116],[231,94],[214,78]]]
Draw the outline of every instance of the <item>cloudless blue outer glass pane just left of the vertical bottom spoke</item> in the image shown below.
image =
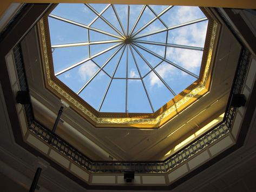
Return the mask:
[[100,112],[126,112],[126,80],[113,80]]

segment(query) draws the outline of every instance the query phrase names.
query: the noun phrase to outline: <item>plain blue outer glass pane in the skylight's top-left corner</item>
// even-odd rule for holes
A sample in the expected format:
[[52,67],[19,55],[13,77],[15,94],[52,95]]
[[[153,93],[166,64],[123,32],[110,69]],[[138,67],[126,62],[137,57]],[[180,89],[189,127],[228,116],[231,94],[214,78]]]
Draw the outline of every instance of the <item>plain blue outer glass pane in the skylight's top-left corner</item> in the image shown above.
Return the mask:
[[80,3],[60,3],[51,11],[51,14],[85,25],[88,25],[96,17],[93,11]]

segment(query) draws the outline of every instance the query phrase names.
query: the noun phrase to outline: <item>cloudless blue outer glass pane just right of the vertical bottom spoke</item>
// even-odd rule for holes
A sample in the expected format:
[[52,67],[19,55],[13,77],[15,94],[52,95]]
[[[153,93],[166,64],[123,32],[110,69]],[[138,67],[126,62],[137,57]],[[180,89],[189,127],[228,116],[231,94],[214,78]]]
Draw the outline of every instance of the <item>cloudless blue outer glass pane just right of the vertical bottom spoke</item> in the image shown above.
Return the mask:
[[153,112],[141,80],[128,80],[127,112]]

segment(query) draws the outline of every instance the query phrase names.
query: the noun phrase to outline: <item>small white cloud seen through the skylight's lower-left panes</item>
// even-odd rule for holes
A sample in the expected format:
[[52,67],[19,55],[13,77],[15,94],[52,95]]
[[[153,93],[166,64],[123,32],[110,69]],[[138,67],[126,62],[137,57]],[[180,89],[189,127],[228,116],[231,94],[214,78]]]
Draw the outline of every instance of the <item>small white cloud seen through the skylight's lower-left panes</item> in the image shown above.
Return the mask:
[[78,69],[78,75],[82,81],[88,81],[89,78],[95,74],[97,69],[98,67],[92,61],[88,61],[82,64]]

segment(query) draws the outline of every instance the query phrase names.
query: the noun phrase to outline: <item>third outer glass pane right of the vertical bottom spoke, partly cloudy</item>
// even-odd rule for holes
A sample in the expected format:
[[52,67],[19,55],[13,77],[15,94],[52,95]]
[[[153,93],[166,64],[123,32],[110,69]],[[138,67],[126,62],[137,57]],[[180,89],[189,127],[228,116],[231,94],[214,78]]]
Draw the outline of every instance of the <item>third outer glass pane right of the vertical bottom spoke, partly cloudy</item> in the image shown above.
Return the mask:
[[166,62],[161,63],[155,70],[177,95],[196,80]]

